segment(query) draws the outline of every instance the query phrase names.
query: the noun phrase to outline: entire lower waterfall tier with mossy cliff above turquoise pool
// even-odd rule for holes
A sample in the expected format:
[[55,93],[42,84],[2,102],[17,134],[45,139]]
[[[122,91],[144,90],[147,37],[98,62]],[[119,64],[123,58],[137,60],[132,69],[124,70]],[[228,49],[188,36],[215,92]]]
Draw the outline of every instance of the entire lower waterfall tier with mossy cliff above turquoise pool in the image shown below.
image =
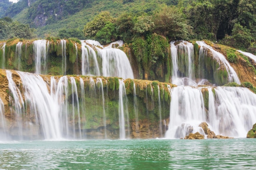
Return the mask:
[[216,134],[246,137],[256,122],[256,94],[247,88],[0,74],[0,140],[180,138],[203,132],[202,122]]

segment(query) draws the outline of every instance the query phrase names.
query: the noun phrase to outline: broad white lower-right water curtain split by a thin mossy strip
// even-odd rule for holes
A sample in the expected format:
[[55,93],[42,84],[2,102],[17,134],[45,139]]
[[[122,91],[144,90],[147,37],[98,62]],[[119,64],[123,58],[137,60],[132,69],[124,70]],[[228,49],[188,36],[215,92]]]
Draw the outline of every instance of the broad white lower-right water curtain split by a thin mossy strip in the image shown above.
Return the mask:
[[256,95],[247,88],[217,87],[216,97],[209,90],[209,117],[204,109],[201,88],[178,86],[171,90],[170,124],[167,138],[180,138],[203,131],[207,122],[216,135],[245,137],[256,122]]

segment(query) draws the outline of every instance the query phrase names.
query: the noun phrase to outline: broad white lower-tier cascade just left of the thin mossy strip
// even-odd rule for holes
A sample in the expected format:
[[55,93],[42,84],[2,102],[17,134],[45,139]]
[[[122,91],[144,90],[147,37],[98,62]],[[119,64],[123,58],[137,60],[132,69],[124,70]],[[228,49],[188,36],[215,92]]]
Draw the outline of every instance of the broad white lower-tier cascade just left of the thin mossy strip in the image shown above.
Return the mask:
[[180,138],[190,132],[200,132],[198,125],[206,120],[200,88],[177,86],[171,89],[168,138]]

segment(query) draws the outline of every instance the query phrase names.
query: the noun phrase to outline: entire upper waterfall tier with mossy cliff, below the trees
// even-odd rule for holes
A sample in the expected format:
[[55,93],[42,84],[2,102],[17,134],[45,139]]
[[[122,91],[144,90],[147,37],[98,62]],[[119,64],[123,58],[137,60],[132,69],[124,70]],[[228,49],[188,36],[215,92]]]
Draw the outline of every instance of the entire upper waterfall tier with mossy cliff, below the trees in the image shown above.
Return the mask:
[[[108,46],[94,40],[16,39],[0,42],[0,63],[5,69],[44,75],[136,78],[189,86],[252,82],[256,86],[256,64],[235,49],[207,42],[213,48],[200,41],[198,48],[196,42],[169,44],[161,36],[152,38],[152,42],[117,41]],[[229,61],[227,56],[234,58]]]

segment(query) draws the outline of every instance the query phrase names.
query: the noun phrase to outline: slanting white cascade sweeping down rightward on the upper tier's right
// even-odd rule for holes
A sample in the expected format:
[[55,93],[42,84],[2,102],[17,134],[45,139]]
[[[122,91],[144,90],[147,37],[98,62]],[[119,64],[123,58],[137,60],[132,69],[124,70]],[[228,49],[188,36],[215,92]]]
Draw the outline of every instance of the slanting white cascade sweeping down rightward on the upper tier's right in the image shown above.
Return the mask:
[[209,49],[212,52],[213,57],[219,62],[220,65],[224,64],[228,73],[229,82],[236,82],[237,84],[240,84],[240,80],[236,74],[236,71],[234,70],[233,67],[231,67],[231,65],[229,64],[229,62],[226,60],[225,56],[222,53],[213,50],[211,46],[205,44],[205,42],[203,41],[196,41],[196,43],[201,46],[200,48]]

